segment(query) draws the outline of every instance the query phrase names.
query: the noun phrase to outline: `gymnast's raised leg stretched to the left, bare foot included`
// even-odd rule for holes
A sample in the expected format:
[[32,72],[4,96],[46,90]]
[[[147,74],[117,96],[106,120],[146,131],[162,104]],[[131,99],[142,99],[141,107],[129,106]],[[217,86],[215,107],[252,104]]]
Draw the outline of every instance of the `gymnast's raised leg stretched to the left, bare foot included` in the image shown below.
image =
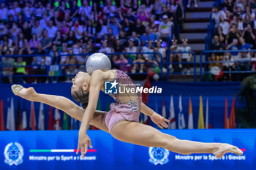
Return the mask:
[[[12,85],[12,92],[15,93],[15,95],[25,98],[29,101],[37,101],[48,104],[52,107],[56,107],[57,109],[61,109],[69,116],[79,121],[82,120],[83,114],[85,112],[85,109],[79,107],[77,104],[69,100],[69,98],[37,93],[34,88],[23,88],[21,85]],[[105,113],[106,112],[102,111],[94,112],[90,125],[94,125],[97,128],[108,132],[108,128],[105,125]]]

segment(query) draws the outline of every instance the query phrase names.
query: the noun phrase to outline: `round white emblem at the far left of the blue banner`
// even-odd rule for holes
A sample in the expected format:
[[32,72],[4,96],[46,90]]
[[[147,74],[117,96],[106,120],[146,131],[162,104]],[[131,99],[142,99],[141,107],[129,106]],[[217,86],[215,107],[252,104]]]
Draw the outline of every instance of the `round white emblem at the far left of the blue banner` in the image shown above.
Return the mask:
[[8,165],[12,166],[15,164],[18,166],[20,163],[23,163],[23,147],[18,142],[11,142],[7,144],[4,149],[4,162]]

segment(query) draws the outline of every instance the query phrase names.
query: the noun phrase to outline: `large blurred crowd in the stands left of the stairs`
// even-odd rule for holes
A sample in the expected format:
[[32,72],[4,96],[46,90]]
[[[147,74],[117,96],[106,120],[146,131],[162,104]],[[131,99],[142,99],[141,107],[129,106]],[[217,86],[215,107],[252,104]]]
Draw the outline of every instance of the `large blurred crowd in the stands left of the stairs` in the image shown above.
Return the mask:
[[[0,53],[13,55],[2,58],[2,74],[7,76],[3,82],[48,82],[43,76],[10,76],[45,75],[47,66],[53,64],[62,64],[62,74],[85,71],[88,55],[78,55],[81,53],[157,52],[165,62],[167,42],[179,40],[181,3],[177,0],[1,1]],[[175,47],[174,50],[189,49]],[[18,57],[31,54],[34,57]],[[153,54],[111,55],[110,58],[115,68],[132,73],[154,70],[157,74],[159,69],[155,68],[161,61],[161,56]],[[187,61],[190,56],[177,55],[177,58]],[[182,68],[181,64],[179,67]],[[172,68],[170,64],[169,69]],[[59,80],[69,82],[70,79],[60,77]]]

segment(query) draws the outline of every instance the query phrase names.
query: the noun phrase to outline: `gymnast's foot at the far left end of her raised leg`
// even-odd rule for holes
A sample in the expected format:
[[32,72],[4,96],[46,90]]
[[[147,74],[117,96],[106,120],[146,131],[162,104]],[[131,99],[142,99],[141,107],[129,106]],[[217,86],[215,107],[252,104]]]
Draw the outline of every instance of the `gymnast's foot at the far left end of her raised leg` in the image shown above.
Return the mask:
[[12,92],[29,101],[33,101],[34,96],[37,94],[34,88],[23,88],[22,85],[12,85]]

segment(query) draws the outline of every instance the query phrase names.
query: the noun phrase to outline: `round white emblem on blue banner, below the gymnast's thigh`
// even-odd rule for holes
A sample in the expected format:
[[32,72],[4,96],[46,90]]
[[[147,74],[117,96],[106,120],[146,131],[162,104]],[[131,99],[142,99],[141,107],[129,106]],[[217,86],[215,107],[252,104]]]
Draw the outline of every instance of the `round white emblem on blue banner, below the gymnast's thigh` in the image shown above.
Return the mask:
[[168,156],[170,154],[169,150],[162,147],[149,147],[149,162],[157,165],[158,163],[163,165],[169,161]]

